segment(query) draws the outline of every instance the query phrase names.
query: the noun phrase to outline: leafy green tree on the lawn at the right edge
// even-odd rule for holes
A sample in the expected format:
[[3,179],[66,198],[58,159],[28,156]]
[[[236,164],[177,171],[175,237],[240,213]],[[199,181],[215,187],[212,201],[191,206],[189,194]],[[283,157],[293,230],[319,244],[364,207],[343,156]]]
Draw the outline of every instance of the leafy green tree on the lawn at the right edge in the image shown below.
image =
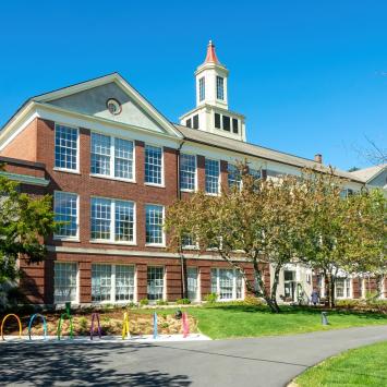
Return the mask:
[[344,181],[330,173],[307,172],[309,193],[302,259],[326,280],[327,299],[335,304],[335,285],[347,274],[375,273],[386,266],[386,199],[363,190],[342,197]]

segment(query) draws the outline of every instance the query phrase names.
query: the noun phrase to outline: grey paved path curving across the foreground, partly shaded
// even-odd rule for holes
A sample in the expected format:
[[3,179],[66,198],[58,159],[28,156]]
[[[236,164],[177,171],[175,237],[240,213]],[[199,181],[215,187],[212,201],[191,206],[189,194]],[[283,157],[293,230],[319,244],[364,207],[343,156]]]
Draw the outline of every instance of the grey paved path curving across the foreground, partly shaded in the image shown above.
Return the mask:
[[387,326],[240,340],[0,344],[0,385],[285,386],[346,349],[387,340]]

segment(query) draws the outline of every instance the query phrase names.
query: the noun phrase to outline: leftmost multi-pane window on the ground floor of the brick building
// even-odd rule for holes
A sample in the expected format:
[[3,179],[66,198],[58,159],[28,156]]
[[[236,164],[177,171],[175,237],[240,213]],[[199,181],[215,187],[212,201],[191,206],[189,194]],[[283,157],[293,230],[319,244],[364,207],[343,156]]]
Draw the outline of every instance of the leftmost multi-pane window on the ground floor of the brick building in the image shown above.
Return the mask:
[[56,262],[53,271],[55,303],[76,301],[76,264]]

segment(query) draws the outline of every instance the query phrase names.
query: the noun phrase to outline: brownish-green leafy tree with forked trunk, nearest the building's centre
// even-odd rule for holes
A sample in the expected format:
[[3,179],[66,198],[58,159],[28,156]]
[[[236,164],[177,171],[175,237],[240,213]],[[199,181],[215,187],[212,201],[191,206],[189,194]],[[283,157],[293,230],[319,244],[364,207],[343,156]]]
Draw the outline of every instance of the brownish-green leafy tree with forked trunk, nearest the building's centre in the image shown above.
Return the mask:
[[[298,256],[304,234],[305,191],[295,177],[282,177],[279,183],[250,176],[245,165],[239,169],[241,188],[223,190],[219,196],[197,192],[168,208],[169,245],[180,251],[190,235],[201,252],[217,252],[242,275],[250,292],[264,298],[273,312],[279,312],[279,274]],[[235,259],[238,254],[253,265],[254,282],[249,280],[241,261]],[[267,264],[274,267],[270,289],[264,283]]]

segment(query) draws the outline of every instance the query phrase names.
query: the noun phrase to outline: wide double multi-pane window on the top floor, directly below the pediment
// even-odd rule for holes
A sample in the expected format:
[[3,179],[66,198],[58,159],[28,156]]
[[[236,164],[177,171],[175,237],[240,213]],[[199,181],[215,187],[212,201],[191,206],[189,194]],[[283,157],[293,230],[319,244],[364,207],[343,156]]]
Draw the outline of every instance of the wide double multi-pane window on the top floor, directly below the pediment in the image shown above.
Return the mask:
[[133,148],[132,141],[92,133],[92,173],[133,180]]

